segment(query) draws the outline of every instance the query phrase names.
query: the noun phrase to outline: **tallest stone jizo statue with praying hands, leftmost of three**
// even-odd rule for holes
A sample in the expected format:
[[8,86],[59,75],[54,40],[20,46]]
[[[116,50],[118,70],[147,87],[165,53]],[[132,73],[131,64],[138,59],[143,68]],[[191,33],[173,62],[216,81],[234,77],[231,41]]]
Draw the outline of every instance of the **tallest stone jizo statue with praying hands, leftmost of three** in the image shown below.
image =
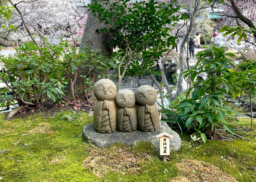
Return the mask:
[[97,132],[112,133],[116,131],[116,85],[109,79],[101,79],[95,83],[93,93],[94,127]]

